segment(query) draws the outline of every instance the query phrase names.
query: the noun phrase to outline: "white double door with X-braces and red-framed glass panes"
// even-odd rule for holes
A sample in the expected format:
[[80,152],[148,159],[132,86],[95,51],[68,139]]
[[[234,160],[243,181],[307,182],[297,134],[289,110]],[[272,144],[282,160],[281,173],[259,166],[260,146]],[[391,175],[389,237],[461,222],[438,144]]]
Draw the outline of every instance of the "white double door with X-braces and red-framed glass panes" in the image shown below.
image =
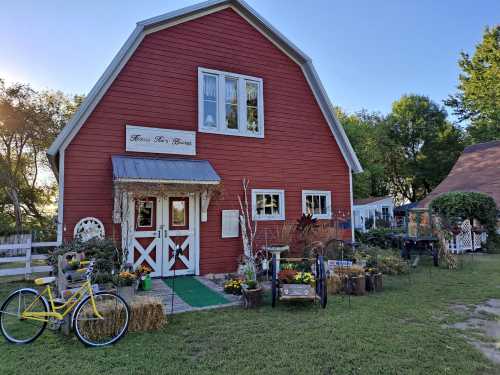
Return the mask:
[[[196,193],[134,199],[129,262],[153,277],[199,274],[199,197]],[[178,255],[176,256],[176,250]]]

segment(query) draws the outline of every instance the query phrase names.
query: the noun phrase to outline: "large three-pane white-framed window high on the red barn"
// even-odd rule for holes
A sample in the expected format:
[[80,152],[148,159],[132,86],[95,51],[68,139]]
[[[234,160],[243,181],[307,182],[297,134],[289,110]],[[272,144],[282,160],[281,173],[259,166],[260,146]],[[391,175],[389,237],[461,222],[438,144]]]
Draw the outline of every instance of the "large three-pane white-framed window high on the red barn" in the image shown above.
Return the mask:
[[262,78],[198,68],[198,131],[264,137]]

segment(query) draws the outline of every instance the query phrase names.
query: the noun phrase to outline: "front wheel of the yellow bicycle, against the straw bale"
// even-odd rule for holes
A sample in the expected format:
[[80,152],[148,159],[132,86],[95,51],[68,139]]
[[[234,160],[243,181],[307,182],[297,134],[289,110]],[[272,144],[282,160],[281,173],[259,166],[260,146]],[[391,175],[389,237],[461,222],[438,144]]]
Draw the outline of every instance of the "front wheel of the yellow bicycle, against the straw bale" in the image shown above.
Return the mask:
[[94,301],[101,317],[96,315],[90,296],[87,297],[75,310],[75,334],[88,346],[114,344],[127,332],[130,309],[122,297],[113,293],[95,293]]

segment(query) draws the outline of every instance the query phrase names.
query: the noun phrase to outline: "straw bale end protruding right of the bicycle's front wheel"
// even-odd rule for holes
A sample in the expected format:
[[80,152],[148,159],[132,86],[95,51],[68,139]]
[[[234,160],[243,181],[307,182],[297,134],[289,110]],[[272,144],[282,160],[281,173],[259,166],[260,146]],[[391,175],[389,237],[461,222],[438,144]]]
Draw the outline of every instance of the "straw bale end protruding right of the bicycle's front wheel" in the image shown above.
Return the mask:
[[165,305],[158,297],[135,296],[129,307],[129,332],[155,331],[167,324]]

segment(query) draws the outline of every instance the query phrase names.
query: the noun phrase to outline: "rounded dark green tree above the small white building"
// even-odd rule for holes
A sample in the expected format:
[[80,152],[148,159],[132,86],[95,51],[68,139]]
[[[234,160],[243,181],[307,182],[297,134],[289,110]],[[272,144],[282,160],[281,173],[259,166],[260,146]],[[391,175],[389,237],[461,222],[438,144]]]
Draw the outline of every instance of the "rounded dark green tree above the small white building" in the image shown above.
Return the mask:
[[449,173],[463,150],[460,128],[426,96],[403,95],[382,125],[379,147],[391,193],[416,202]]

